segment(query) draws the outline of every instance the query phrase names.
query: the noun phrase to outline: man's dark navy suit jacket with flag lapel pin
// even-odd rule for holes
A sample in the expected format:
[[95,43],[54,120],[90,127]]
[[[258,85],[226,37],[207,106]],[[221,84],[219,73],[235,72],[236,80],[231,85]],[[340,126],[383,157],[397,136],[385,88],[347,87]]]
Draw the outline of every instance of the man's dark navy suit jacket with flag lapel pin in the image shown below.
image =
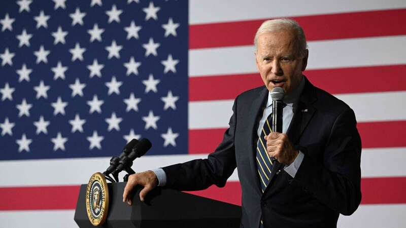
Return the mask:
[[235,167],[242,187],[242,227],[336,227],[339,213],[361,201],[361,140],[353,110],[306,78],[287,135],[303,154],[292,178],[274,163],[261,193],[256,130],[266,104],[265,86],[239,95],[223,141],[208,159],[164,167],[167,186],[182,191],[224,186]]

